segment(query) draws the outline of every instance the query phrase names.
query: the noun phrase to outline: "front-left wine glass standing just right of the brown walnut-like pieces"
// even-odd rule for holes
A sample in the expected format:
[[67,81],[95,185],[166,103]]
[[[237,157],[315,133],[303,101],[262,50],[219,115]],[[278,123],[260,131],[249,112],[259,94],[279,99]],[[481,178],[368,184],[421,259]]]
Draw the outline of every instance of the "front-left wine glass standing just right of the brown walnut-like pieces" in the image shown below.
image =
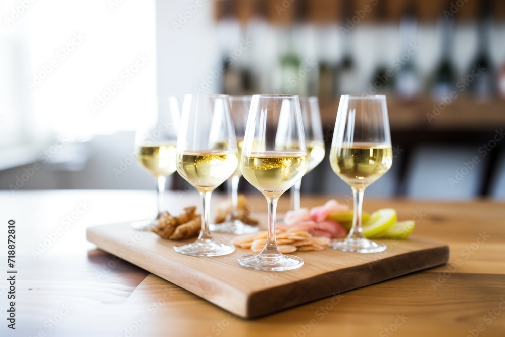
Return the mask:
[[235,246],[217,242],[209,231],[212,191],[235,172],[238,164],[227,95],[185,95],[176,163],[177,172],[200,192],[203,209],[198,239],[174,250],[194,256],[232,253]]

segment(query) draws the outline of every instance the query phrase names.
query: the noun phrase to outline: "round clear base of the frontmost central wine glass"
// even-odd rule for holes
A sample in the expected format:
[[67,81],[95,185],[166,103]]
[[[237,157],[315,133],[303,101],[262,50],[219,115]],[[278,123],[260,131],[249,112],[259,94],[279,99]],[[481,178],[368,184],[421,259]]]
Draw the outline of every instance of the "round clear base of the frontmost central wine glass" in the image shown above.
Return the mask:
[[237,261],[242,267],[267,271],[292,270],[304,264],[304,259],[297,256],[263,252],[242,255]]

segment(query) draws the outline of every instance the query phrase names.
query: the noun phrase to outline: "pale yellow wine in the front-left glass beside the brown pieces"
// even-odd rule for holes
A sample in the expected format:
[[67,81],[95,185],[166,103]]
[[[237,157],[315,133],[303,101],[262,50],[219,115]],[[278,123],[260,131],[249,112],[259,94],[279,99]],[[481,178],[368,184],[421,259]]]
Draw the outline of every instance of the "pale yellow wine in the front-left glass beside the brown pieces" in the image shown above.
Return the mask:
[[214,190],[237,168],[237,153],[211,150],[183,152],[177,172],[200,192]]

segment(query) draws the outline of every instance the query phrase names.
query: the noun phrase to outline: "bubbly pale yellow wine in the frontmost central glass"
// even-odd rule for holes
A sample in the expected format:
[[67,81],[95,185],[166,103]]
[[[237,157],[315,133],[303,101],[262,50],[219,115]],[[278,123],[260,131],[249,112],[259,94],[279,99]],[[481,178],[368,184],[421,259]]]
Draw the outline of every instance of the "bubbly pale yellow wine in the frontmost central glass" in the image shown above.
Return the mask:
[[242,174],[264,195],[280,196],[304,176],[307,155],[304,153],[251,153],[243,157]]

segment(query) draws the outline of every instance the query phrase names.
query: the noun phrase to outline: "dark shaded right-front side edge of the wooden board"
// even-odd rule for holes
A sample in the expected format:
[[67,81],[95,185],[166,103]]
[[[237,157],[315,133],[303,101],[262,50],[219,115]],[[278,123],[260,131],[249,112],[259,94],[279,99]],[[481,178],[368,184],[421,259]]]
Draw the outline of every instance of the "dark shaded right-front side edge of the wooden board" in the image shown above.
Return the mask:
[[[382,271],[382,273],[375,272],[370,273],[371,269],[369,263],[362,264],[359,266],[353,266],[345,269],[340,269],[337,271],[328,272],[323,275],[318,275],[309,279],[293,282],[289,287],[285,285],[279,287],[272,287],[266,290],[256,292],[250,295],[249,300],[246,305],[245,317],[247,319],[257,319],[266,315],[273,314],[282,310],[286,310],[301,304],[306,304],[330,296],[336,296],[338,294],[355,290],[367,285],[372,285],[375,283],[383,282],[388,279],[396,278],[399,276],[411,274],[424,269],[433,268],[439,265],[446,264],[449,261],[449,246],[442,244],[444,246],[428,248],[421,251],[407,252],[400,255],[395,255],[392,257],[386,257],[384,259],[376,261],[373,269],[376,271]],[[398,257],[403,259],[410,259],[416,257],[420,262],[416,261],[415,264],[401,264],[398,263]],[[424,259],[424,261],[422,261]],[[396,268],[393,266],[401,266],[402,268]],[[406,268],[405,266],[410,266]],[[334,279],[341,275],[347,276],[347,282],[336,288],[327,288],[325,290],[325,295],[321,296],[321,287],[315,288],[315,283],[319,284],[331,284],[334,283]],[[363,278],[362,275],[369,275],[369,278]],[[382,276],[381,276],[382,275]],[[361,277],[360,277],[361,276]],[[374,277],[375,276],[375,277]],[[321,280],[316,280],[316,278],[324,277],[326,280],[321,282]],[[305,290],[306,293],[300,296],[293,296],[293,293],[298,290]],[[279,293],[283,295],[279,295]],[[271,296],[275,294],[275,296]],[[282,303],[268,303],[264,299],[271,298],[283,298],[286,301]],[[290,299],[290,300],[289,300]],[[271,308],[277,308],[272,310]]]

